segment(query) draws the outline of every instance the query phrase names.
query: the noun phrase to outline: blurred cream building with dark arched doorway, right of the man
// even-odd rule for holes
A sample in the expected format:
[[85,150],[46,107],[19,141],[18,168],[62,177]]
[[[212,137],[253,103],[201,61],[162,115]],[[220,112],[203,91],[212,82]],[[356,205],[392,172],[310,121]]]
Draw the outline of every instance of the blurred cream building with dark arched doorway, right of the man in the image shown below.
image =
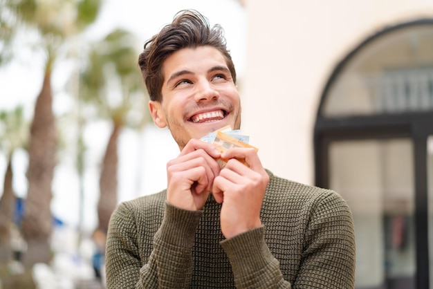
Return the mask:
[[243,1],[243,129],[352,209],[356,288],[433,288],[433,1]]

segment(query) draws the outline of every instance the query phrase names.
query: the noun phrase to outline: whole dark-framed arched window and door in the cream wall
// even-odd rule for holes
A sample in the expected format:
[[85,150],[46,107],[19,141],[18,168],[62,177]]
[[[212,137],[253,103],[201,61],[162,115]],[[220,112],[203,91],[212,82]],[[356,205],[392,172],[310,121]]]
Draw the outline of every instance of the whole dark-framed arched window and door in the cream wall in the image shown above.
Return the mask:
[[314,144],[316,185],[353,213],[356,288],[433,288],[433,19],[387,27],[336,66]]

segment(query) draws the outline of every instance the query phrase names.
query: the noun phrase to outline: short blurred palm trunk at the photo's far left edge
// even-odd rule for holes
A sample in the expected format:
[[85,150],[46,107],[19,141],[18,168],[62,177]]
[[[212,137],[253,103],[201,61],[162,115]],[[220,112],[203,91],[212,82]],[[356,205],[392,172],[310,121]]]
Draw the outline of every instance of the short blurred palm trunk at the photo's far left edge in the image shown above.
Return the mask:
[[8,167],[3,184],[3,195],[0,199],[0,264],[12,259],[10,245],[10,229],[15,212],[15,196],[12,189],[12,154],[8,160]]

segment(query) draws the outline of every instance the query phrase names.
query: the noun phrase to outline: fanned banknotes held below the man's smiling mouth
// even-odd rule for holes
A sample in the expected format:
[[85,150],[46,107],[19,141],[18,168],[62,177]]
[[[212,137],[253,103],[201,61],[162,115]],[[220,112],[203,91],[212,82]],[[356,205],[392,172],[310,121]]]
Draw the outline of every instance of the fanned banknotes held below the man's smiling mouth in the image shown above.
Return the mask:
[[[232,149],[233,147],[249,147],[255,149],[255,151],[259,151],[257,147],[253,147],[252,145],[248,144],[250,140],[249,136],[242,135],[239,129],[232,130],[230,126],[223,127],[217,131],[209,133],[207,136],[203,136],[201,140],[211,143],[221,153],[227,151],[228,149]],[[245,159],[238,159],[238,160],[242,162],[244,165],[248,165]],[[219,163],[219,167],[221,169],[225,167],[227,161],[228,160],[224,160],[222,158],[219,158],[219,160],[217,160],[217,162]]]

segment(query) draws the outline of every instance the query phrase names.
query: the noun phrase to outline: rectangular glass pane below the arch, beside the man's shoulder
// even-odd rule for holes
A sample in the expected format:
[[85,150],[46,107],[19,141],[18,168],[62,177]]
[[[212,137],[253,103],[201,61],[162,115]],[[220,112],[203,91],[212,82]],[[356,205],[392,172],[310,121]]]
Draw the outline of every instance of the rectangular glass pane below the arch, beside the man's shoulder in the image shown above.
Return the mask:
[[412,147],[409,139],[330,144],[329,186],[347,200],[355,223],[356,288],[414,288]]

